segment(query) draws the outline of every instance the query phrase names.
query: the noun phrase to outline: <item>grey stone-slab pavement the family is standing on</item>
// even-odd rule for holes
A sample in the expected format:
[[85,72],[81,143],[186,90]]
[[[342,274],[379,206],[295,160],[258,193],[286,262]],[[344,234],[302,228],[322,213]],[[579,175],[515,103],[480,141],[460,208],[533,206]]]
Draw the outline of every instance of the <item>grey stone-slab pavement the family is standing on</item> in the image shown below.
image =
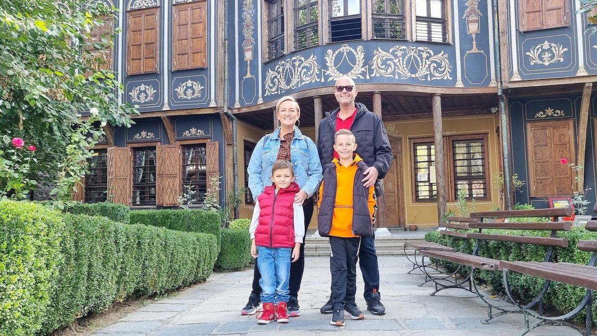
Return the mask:
[[[303,283],[298,297],[303,316],[290,323],[257,325],[255,315],[241,316],[241,308],[251,292],[253,270],[214,273],[207,282],[180,294],[140,308],[119,322],[96,332],[107,335],[517,335],[523,328],[521,314],[497,317],[488,325],[479,320],[487,308],[476,295],[462,289],[449,289],[431,297],[432,285],[417,285],[420,274],[406,274],[411,265],[405,257],[380,256],[381,298],[387,313],[375,316],[366,310],[362,297],[356,303],[365,314],[362,320],[346,320],[346,326],[329,324],[331,315],[319,313],[330,289],[328,258],[306,258]],[[358,292],[362,277],[358,271]],[[492,299],[501,301],[500,299]],[[506,303],[501,301],[504,305]],[[578,335],[565,326],[543,326],[527,335]]]

